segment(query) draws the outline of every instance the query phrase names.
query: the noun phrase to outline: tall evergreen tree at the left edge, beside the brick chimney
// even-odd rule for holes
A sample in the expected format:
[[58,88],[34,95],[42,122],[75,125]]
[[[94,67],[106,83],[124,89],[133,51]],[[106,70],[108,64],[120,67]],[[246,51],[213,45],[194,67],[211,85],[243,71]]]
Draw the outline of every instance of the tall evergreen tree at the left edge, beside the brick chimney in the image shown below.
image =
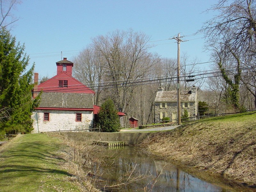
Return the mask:
[[24,44],[16,45],[15,37],[5,28],[0,29],[0,134],[31,132],[31,111],[37,99],[31,100],[34,64],[28,71],[29,57]]

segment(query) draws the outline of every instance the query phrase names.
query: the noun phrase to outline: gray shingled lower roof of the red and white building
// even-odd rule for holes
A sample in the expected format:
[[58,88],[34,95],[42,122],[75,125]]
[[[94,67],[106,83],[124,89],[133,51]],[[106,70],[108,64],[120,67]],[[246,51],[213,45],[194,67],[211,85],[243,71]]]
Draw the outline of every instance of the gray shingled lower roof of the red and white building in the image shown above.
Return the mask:
[[93,108],[93,94],[43,92],[39,107],[44,108]]

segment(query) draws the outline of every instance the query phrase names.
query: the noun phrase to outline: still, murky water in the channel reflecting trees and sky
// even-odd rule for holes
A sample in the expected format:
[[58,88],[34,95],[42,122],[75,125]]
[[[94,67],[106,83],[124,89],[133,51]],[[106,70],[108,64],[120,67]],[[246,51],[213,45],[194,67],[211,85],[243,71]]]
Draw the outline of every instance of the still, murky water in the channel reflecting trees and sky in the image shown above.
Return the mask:
[[[106,192],[235,192],[224,183],[210,183],[194,175],[180,170],[164,160],[152,158],[137,147],[125,146],[123,148],[104,148],[102,151],[110,166],[101,168],[100,180],[108,180],[107,183],[99,182],[98,186]],[[144,179],[142,179],[144,178]],[[127,183],[127,185],[108,188],[116,185],[115,181]],[[105,187],[104,187],[105,186]]]

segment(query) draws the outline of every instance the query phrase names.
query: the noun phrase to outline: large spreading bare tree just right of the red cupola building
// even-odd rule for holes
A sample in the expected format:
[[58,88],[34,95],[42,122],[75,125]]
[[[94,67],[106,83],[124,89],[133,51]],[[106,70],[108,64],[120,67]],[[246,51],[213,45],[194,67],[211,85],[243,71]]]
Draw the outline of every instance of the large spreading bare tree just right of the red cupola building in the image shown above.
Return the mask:
[[119,111],[126,111],[135,95],[140,79],[148,78],[150,70],[159,63],[157,55],[148,52],[149,36],[144,33],[116,30],[106,36],[93,38],[94,49],[105,59],[106,77],[111,88],[106,91]]

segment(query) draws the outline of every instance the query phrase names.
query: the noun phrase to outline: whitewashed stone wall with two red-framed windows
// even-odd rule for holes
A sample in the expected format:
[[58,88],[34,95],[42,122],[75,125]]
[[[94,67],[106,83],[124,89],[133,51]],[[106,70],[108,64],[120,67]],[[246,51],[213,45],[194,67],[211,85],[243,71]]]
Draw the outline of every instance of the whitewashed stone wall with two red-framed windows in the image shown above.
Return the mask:
[[[39,115],[39,132],[88,129],[92,125],[93,111],[36,110],[32,114],[34,119],[32,133],[38,132],[36,112]],[[49,113],[49,121],[44,121],[44,113]],[[76,113],[82,113],[82,122],[76,122]]]

